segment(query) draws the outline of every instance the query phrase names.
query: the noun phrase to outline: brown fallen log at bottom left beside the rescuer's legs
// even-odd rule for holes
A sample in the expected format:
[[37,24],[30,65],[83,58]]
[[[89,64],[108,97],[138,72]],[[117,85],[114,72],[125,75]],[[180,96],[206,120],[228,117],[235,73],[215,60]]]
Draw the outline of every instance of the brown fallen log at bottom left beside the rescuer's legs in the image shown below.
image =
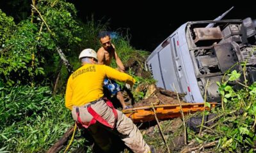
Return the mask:
[[58,140],[52,147],[47,151],[47,153],[54,153],[54,152],[59,152],[64,144],[68,141],[68,138],[72,135],[74,131],[74,126],[71,126],[65,133],[64,135]]

